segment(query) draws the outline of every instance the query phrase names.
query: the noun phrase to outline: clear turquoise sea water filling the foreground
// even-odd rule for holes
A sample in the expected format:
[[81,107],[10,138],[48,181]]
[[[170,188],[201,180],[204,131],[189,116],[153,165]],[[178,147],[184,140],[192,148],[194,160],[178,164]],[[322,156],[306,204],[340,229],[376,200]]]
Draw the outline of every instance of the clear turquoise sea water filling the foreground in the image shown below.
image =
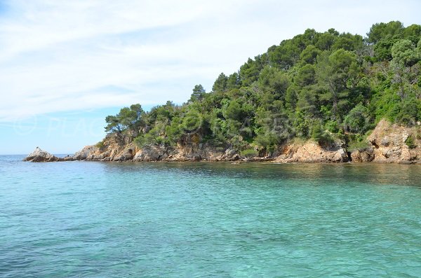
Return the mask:
[[421,277],[420,165],[0,156],[0,277]]

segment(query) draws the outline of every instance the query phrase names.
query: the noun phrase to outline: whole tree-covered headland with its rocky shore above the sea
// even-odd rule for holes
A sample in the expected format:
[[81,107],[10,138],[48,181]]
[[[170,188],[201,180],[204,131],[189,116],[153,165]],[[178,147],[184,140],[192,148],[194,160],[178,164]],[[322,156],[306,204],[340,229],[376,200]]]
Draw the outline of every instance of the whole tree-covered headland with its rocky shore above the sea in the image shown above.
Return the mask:
[[421,25],[375,24],[366,38],[307,29],[221,73],[210,92],[196,84],[182,104],[106,116],[95,146],[27,160],[415,163],[420,76]]

